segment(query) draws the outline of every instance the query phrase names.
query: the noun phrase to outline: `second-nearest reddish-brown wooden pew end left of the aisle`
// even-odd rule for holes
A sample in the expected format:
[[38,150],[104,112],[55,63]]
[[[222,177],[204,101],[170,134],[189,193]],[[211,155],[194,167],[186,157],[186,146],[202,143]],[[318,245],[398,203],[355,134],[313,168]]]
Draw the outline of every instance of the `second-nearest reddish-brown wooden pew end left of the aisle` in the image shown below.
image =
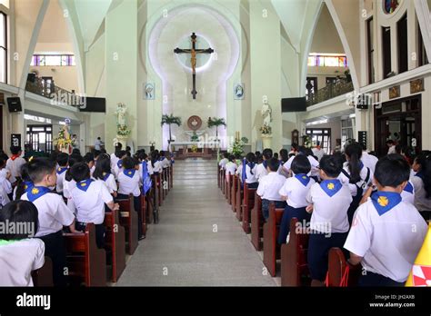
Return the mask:
[[125,228],[120,225],[119,211],[105,212],[105,251],[112,265],[111,281],[125,271]]

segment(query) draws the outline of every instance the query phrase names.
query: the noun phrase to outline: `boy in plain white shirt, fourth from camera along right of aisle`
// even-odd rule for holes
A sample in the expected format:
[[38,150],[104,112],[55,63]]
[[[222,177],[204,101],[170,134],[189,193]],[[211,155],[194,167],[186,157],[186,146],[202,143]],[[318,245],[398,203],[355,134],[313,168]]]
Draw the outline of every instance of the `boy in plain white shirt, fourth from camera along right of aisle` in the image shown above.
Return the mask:
[[286,202],[283,201],[279,191],[285,184],[286,178],[277,173],[279,163],[276,158],[271,158],[266,160],[267,167],[266,176],[262,177],[259,181],[259,186],[257,187],[257,195],[262,198],[262,214],[265,221],[269,217],[269,204],[274,202],[276,208],[285,208]]

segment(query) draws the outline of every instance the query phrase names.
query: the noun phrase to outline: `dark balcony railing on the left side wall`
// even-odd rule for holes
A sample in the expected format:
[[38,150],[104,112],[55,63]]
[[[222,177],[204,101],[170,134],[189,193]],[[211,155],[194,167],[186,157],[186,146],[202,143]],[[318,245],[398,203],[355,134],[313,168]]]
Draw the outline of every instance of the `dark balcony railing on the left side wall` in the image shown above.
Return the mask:
[[27,80],[25,90],[75,107],[81,105],[83,102],[83,98],[80,95],[67,91],[55,85],[54,82],[44,80],[43,78],[36,77],[33,81]]

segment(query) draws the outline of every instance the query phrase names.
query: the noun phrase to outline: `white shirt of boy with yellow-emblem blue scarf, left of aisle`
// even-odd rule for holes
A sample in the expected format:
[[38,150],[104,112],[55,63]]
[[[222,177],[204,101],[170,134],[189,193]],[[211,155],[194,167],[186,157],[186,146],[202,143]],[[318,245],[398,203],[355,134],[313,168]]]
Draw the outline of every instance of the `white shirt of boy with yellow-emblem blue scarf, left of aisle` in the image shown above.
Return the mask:
[[[27,193],[23,194],[21,200],[29,201]],[[35,237],[61,231],[63,226],[69,226],[75,220],[74,213],[67,208],[63,198],[56,193],[46,193],[33,203],[39,212],[39,231]]]

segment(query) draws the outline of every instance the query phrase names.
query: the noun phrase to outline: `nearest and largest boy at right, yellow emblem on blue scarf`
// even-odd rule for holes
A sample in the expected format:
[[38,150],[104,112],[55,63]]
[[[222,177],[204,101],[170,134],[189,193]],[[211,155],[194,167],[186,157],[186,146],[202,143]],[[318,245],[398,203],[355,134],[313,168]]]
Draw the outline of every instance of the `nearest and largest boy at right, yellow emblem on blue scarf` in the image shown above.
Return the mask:
[[[344,247],[349,262],[361,263],[359,285],[403,286],[426,236],[426,222],[400,193],[410,168],[388,155],[376,164],[377,193],[359,206]],[[412,227],[415,227],[413,230]]]

